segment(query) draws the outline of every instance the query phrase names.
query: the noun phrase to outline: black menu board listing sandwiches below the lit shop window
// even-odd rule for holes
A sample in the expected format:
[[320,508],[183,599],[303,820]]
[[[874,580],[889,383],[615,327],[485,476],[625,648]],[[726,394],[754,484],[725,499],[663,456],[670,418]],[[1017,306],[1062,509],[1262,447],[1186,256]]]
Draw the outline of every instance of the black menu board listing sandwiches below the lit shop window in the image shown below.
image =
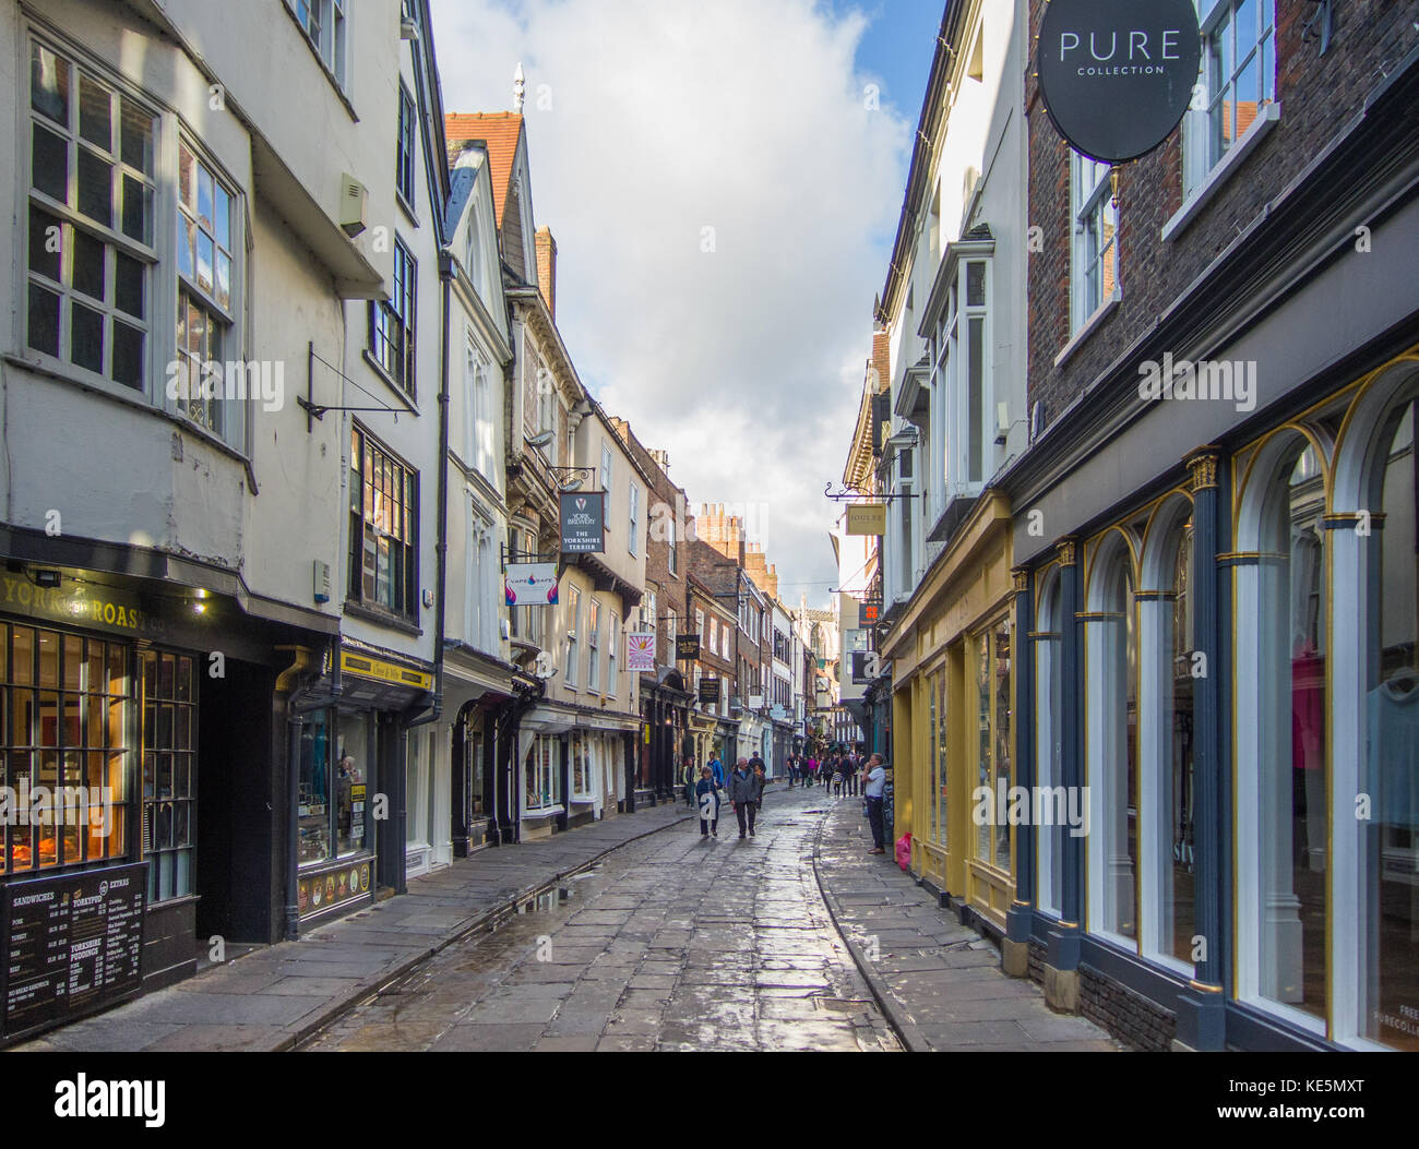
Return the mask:
[[0,901],[0,1034],[112,1004],[142,987],[148,862],[11,882]]

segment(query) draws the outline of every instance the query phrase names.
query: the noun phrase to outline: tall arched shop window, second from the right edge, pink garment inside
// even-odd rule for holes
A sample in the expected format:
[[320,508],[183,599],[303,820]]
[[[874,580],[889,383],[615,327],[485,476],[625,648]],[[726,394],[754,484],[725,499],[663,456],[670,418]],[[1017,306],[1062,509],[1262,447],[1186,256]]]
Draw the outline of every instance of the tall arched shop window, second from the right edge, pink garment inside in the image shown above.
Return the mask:
[[1298,1021],[1327,1007],[1324,514],[1311,441],[1263,444],[1236,567],[1237,992]]

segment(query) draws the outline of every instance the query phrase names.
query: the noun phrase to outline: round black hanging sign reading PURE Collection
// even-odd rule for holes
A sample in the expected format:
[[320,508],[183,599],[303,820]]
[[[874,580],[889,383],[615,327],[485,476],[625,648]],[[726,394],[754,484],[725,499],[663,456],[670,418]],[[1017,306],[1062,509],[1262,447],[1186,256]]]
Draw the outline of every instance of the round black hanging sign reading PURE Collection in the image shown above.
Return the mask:
[[1202,62],[1193,0],[1053,0],[1040,26],[1040,95],[1056,131],[1107,163],[1162,143]]

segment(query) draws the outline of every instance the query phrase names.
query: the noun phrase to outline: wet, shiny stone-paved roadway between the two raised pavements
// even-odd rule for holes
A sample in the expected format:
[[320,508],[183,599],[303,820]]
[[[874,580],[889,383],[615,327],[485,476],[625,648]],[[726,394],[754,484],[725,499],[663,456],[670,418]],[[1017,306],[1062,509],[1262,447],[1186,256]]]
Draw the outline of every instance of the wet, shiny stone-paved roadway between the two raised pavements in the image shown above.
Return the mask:
[[491,933],[453,943],[305,1050],[898,1050],[813,872],[830,806],[771,790],[604,858]]

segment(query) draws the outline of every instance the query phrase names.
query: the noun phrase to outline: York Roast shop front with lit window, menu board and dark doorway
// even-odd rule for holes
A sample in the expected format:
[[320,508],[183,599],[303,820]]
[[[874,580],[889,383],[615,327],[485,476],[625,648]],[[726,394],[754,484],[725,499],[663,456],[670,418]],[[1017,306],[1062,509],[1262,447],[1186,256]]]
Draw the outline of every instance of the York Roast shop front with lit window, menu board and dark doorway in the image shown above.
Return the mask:
[[[207,589],[0,572],[0,1040],[180,980],[213,935],[272,940],[270,716],[292,637],[314,635]],[[31,945],[95,928],[96,949]]]

